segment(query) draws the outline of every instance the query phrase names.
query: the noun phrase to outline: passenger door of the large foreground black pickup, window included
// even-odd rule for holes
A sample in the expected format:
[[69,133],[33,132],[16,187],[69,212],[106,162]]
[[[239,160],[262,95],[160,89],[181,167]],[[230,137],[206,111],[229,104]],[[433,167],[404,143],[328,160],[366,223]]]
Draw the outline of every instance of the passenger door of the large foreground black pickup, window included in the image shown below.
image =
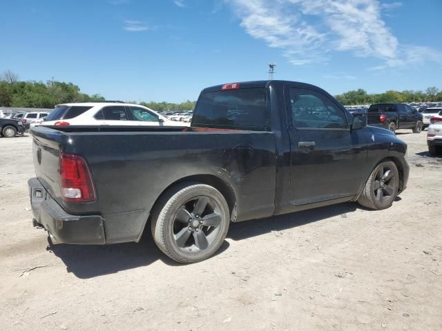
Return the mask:
[[305,205],[350,197],[365,173],[364,130],[350,130],[343,107],[316,90],[287,86],[291,143],[290,202]]

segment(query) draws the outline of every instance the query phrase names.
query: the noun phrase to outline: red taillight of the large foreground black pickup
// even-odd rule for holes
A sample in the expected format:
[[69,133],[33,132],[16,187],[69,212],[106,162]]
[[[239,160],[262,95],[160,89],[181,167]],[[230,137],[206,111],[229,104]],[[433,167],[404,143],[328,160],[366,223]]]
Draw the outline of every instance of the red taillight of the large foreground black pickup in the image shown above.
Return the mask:
[[93,201],[95,190],[86,160],[77,155],[60,155],[60,188],[64,201]]

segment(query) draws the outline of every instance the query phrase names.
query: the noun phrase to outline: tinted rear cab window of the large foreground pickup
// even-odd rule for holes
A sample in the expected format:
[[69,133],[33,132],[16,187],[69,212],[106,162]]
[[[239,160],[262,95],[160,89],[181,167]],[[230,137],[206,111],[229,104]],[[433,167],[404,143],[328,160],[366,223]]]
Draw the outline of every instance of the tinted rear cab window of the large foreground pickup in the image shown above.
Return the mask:
[[193,112],[193,126],[267,127],[267,90],[244,88],[201,94]]

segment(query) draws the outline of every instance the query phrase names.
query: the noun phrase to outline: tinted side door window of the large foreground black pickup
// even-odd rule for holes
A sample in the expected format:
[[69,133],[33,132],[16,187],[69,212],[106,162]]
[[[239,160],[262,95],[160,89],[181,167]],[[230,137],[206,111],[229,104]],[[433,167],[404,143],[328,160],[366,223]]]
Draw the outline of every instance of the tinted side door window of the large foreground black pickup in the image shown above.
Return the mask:
[[291,88],[290,102],[295,128],[348,128],[343,110],[320,93]]

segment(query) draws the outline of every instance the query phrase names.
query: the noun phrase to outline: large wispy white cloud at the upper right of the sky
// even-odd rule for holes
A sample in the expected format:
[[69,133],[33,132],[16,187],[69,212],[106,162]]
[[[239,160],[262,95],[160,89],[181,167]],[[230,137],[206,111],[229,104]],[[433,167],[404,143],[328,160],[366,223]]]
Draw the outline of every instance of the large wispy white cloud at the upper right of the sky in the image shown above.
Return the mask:
[[442,61],[440,52],[401,46],[385,21],[383,9],[400,2],[378,0],[225,0],[248,34],[280,48],[294,65],[324,63],[332,52],[380,59],[385,66]]

